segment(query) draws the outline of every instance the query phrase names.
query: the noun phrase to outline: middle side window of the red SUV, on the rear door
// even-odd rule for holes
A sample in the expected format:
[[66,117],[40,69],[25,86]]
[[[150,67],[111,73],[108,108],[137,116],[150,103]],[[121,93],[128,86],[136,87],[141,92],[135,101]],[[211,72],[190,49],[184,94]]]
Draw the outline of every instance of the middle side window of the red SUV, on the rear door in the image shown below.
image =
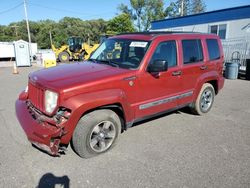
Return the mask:
[[201,40],[183,40],[182,49],[184,64],[203,61]]

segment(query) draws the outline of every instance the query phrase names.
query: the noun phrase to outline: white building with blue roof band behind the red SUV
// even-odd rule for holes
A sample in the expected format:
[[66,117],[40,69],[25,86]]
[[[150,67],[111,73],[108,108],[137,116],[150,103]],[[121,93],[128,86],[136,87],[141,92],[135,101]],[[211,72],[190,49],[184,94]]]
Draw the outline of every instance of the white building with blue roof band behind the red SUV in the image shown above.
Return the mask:
[[154,21],[151,30],[215,33],[221,39],[250,37],[250,5]]

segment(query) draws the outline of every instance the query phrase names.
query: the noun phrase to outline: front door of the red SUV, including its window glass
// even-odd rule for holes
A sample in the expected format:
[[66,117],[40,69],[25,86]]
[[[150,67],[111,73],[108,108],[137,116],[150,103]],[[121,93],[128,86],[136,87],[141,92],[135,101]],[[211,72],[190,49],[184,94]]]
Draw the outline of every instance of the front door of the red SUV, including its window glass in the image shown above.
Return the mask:
[[160,73],[145,71],[138,75],[136,119],[177,107],[181,85],[176,49],[174,40],[159,43],[149,64],[165,60],[168,70]]

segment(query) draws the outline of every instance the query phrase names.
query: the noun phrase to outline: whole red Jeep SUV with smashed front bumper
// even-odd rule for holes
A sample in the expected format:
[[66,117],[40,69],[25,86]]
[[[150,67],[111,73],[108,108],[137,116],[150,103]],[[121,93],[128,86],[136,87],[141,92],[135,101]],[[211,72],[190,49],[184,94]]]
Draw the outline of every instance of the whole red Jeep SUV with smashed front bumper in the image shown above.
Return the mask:
[[16,115],[36,147],[57,156],[71,141],[89,158],[135,122],[186,106],[206,114],[224,85],[223,61],[213,34],[116,35],[86,62],[31,73]]

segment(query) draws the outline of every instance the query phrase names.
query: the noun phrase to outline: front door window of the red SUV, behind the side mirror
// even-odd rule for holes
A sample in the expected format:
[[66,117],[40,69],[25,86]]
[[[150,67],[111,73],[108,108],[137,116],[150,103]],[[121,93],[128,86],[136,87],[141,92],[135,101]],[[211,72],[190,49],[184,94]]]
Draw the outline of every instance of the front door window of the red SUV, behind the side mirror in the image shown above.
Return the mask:
[[168,62],[168,67],[175,67],[177,65],[177,53],[176,53],[176,42],[175,41],[166,41],[161,42],[150,61],[150,64],[155,60],[165,60]]

